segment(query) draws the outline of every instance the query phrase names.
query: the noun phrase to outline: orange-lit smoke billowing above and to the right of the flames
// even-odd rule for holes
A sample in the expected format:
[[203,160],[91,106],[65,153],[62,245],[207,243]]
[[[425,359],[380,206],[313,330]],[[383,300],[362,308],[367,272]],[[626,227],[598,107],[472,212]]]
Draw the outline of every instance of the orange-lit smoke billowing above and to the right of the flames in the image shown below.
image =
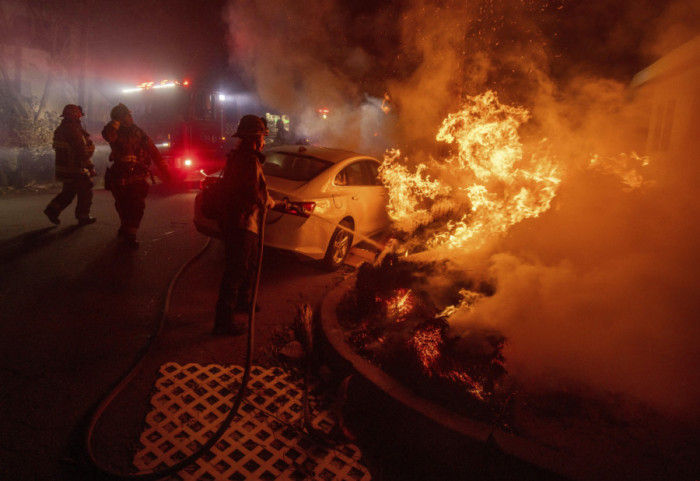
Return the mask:
[[[455,332],[498,327],[508,370],[532,386],[583,384],[695,417],[700,236],[689,179],[698,169],[636,156],[645,153],[648,99],[629,84],[697,35],[698,18],[691,1],[226,9],[231,63],[324,144],[399,147],[412,153],[407,162],[423,163],[466,96],[492,89],[527,108],[522,141],[547,139],[561,184],[547,212],[487,248],[431,253],[497,288],[451,319]],[[378,109],[384,93],[389,114]],[[331,121],[318,119],[321,106],[336,114]],[[697,165],[696,152],[678,162]]]

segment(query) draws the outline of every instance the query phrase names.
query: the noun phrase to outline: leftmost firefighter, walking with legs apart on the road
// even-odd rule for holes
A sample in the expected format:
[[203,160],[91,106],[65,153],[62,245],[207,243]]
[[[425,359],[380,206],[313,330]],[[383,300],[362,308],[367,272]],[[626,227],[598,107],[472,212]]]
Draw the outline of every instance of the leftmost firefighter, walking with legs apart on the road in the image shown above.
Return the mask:
[[63,182],[61,193],[51,200],[44,214],[58,225],[63,209],[77,196],[75,217],[79,225],[93,224],[97,219],[90,216],[92,205],[92,177],[95,166],[91,157],[95,144],[90,134],[80,125],[83,109],[79,105],[68,104],[63,108],[61,124],[53,133],[53,148],[56,151],[56,180]]

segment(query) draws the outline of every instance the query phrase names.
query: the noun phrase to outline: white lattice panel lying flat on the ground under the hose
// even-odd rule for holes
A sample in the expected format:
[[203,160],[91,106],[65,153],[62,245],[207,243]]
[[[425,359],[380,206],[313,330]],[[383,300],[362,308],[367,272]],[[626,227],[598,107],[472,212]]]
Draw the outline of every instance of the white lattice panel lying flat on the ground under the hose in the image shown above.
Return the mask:
[[[240,366],[164,364],[141,434],[140,470],[172,465],[211,438],[226,417],[243,377]],[[332,445],[301,429],[302,389],[280,368],[254,367],[248,395],[224,436],[171,480],[371,479],[352,444]],[[233,395],[232,395],[233,393]],[[328,433],[331,412],[311,397],[311,425]]]

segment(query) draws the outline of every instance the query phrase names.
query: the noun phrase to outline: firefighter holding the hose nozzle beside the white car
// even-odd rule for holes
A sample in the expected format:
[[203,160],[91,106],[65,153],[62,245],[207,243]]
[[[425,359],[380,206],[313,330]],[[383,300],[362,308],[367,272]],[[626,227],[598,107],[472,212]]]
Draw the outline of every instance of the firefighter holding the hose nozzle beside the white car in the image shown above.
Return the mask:
[[[262,164],[267,126],[256,115],[245,115],[234,137],[240,144],[228,154],[221,182],[227,192],[219,219],[225,249],[224,273],[214,319],[215,335],[238,335],[246,326],[234,321],[234,312],[251,308],[250,289],[258,260],[262,209],[275,206],[267,191]],[[257,308],[257,306],[256,306]]]

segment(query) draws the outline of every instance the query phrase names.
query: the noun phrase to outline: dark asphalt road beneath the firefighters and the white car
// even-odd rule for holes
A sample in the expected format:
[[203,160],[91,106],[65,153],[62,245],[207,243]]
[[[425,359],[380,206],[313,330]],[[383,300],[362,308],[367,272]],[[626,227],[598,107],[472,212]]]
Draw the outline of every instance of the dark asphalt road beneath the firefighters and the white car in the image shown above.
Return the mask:
[[[242,364],[245,336],[210,334],[223,249],[192,224],[194,191],[154,186],[141,247],[116,237],[111,194],[95,191],[97,223],[77,227],[75,204],[54,226],[42,213],[56,190],[0,198],[0,479],[87,479],[81,470],[86,416],[149,344],[172,287],[165,327],[139,375],[95,431],[106,465],[130,469],[160,365]],[[192,260],[197,254],[198,257]],[[343,278],[313,263],[265,251],[254,359],[297,304],[316,307]],[[92,478],[90,478],[92,479]]]

